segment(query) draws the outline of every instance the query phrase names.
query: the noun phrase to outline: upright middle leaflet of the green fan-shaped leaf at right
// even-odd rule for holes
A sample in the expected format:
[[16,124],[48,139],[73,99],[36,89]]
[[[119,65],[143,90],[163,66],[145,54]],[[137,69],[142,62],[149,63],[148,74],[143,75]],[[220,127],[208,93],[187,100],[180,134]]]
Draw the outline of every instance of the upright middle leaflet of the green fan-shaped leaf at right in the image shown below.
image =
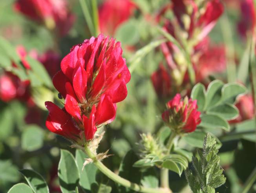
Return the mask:
[[210,82],[210,84],[207,87],[207,92],[206,92],[207,99],[206,99],[206,105],[204,110],[214,106],[219,102],[221,98],[221,89],[223,85],[224,83],[220,80],[214,80]]

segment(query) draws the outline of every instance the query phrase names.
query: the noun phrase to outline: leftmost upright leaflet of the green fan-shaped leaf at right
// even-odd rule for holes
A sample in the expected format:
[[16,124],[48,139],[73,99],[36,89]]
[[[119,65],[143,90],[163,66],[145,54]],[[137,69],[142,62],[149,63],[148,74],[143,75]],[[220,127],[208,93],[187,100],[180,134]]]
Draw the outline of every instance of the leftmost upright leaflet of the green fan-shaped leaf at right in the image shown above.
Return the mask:
[[191,92],[190,96],[193,100],[197,100],[198,111],[203,111],[205,107],[205,86],[201,83],[197,83]]

